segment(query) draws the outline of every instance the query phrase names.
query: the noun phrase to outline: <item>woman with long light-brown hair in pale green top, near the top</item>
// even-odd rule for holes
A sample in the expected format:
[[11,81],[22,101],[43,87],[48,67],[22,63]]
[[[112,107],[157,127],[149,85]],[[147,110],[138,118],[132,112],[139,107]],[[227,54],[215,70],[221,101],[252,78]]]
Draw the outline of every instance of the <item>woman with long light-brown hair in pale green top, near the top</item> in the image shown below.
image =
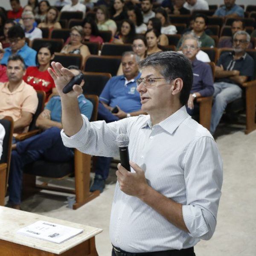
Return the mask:
[[110,30],[112,38],[116,35],[116,23],[111,20],[108,9],[104,5],[100,5],[96,9],[96,24],[99,30]]

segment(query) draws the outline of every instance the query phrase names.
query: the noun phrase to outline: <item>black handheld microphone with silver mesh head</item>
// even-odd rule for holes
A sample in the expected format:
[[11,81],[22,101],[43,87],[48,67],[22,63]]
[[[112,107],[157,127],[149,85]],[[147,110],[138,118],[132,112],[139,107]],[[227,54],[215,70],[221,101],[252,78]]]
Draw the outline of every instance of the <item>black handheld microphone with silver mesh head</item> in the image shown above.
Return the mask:
[[116,137],[116,143],[119,147],[121,165],[126,170],[131,172],[131,167],[130,167],[130,164],[129,164],[129,152],[128,152],[129,137],[126,134],[119,134]]

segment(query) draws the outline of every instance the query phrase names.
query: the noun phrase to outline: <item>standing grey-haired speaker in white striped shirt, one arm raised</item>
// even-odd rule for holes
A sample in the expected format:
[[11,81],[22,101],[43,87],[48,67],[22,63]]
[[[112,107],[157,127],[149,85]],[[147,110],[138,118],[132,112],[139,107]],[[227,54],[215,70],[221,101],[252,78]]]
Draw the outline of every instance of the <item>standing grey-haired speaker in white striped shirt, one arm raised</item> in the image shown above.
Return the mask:
[[89,122],[78,111],[80,85],[62,93],[72,77],[60,63],[48,69],[61,95],[64,145],[87,154],[119,156],[119,134],[129,137],[131,172],[119,163],[110,220],[112,256],[195,256],[212,237],[221,196],[222,161],[212,135],[186,112],[191,62],[157,52],[140,62],[137,79],[148,115]]

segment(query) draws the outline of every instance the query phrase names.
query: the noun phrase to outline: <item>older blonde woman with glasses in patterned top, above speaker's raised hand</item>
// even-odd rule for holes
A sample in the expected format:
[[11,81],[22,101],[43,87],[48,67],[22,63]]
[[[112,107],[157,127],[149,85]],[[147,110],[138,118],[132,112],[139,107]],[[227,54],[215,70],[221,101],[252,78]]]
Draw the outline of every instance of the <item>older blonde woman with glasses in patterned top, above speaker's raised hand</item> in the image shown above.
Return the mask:
[[61,52],[81,54],[84,63],[84,59],[87,55],[90,55],[90,51],[86,45],[82,44],[83,38],[84,30],[82,26],[73,26],[70,29],[70,42],[61,49]]

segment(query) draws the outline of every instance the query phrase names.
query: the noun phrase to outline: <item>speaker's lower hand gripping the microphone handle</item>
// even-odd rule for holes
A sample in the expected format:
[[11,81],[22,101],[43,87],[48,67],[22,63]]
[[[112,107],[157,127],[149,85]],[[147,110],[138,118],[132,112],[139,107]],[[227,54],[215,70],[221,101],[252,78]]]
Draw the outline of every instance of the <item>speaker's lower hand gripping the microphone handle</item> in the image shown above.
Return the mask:
[[128,172],[120,163],[117,165],[116,176],[119,188],[127,195],[140,198],[148,187],[145,173],[136,163],[130,161],[130,165],[135,172]]

